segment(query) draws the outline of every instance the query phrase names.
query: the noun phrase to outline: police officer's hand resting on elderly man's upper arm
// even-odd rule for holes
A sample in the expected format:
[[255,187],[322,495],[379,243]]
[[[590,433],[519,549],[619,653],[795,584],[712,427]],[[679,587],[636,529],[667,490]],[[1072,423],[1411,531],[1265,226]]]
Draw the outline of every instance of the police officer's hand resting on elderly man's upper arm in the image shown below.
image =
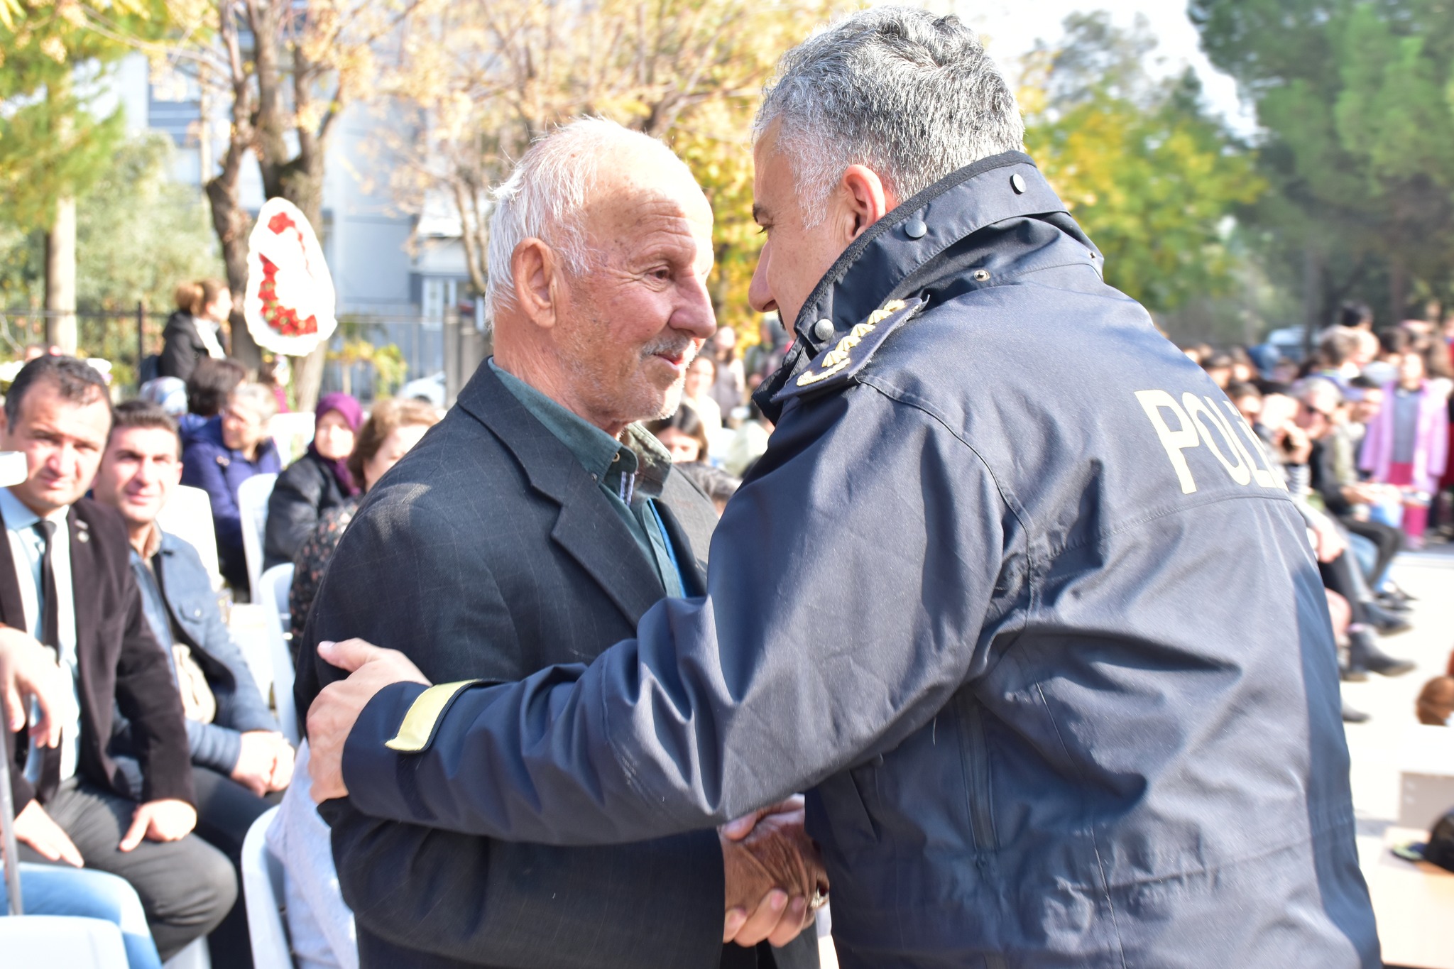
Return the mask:
[[391,683],[429,686],[429,680],[403,652],[381,649],[362,639],[320,642],[318,655],[350,673],[348,680],[323,687],[308,708],[308,776],[313,800],[323,803],[349,793],[343,784],[343,742],[374,694]]

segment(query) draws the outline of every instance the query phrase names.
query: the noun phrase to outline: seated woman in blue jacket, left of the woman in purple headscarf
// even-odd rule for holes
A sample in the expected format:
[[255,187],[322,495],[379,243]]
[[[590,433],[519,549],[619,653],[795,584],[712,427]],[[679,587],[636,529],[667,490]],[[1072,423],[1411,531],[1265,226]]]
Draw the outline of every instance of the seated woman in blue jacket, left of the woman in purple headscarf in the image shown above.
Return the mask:
[[268,437],[268,421],[276,413],[272,391],[241,384],[222,413],[182,431],[182,484],[202,488],[212,500],[218,565],[236,590],[249,588],[237,488],[253,475],[282,471],[278,447]]

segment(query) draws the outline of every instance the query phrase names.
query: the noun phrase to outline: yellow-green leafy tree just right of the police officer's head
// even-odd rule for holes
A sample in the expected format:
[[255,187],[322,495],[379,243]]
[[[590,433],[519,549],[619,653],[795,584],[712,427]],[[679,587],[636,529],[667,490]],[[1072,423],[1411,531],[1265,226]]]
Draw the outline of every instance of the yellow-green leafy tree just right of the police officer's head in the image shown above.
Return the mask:
[[1029,57],[1021,97],[1027,147],[1105,254],[1106,282],[1170,311],[1234,285],[1232,216],[1265,186],[1192,71],[1147,76],[1153,49],[1144,22],[1072,15],[1061,44]]

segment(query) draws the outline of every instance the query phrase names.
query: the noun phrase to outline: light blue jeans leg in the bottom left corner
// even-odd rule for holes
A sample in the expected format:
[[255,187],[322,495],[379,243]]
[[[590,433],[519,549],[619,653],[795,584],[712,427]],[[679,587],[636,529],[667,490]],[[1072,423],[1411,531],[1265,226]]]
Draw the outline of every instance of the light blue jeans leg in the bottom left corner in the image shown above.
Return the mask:
[[[161,969],[141,899],[121,876],[68,864],[20,861],[20,899],[26,915],[79,915],[115,923],[129,969]],[[0,879],[0,908],[9,911],[9,907],[10,892]]]

